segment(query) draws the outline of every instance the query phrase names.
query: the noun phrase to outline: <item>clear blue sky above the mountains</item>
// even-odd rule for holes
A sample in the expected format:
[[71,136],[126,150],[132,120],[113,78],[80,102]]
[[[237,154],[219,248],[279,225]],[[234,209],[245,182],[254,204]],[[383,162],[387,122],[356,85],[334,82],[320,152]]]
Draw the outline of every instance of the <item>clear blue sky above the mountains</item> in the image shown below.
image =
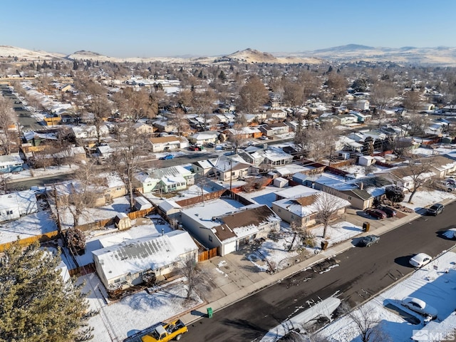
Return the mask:
[[9,0],[0,45],[114,57],[456,46],[454,0]]

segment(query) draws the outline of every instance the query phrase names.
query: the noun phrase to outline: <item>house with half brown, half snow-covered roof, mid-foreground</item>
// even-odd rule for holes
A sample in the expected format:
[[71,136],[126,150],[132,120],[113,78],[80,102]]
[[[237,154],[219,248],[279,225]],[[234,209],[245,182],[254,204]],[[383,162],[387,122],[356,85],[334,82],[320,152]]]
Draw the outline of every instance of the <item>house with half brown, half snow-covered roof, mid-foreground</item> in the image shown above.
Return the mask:
[[266,205],[227,212],[221,199],[181,211],[183,227],[205,247],[217,248],[222,257],[255,239],[280,229],[280,219]]

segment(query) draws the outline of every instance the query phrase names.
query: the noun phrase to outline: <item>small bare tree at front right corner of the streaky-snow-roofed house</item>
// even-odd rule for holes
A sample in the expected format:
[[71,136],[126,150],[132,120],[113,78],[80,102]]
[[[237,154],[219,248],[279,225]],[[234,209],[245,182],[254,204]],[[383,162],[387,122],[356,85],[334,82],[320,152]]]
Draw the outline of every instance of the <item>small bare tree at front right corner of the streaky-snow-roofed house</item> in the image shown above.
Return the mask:
[[204,296],[212,287],[210,275],[199,267],[195,254],[187,254],[186,257],[180,260],[177,274],[187,278],[187,299],[191,299],[193,293]]

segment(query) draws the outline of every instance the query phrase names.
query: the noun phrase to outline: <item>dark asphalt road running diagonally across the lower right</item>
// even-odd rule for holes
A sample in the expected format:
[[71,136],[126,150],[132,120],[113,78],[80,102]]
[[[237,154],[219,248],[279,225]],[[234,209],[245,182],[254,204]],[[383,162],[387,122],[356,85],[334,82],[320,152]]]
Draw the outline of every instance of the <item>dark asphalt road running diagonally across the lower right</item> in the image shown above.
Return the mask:
[[[372,247],[356,247],[336,257],[338,266],[301,271],[263,291],[201,318],[189,326],[182,341],[260,341],[270,328],[309,307],[309,303],[338,294],[353,306],[410,274],[408,260],[425,252],[435,257],[455,241],[440,232],[455,227],[456,203],[437,217],[420,217],[380,237]],[[323,267],[324,268],[324,267]]]

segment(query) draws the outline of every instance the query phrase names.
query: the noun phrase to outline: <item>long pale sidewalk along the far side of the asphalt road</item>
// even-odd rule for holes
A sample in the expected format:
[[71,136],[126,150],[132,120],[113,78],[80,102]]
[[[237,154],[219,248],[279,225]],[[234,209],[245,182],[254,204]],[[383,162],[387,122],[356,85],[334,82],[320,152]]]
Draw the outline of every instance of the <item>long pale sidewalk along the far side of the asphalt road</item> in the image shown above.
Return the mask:
[[[442,204],[448,204],[452,202],[454,199],[448,199],[442,202]],[[419,212],[412,212],[410,214],[407,214],[405,217],[401,217],[400,219],[396,219],[393,222],[381,222],[377,221],[379,224],[375,224],[374,227],[373,224],[371,224],[371,229],[369,232],[363,232],[359,234],[357,237],[363,237],[369,234],[375,234],[375,235],[381,235],[385,234],[386,232],[389,232],[392,229],[395,229],[396,227],[399,227],[403,224],[406,224],[408,222],[411,222],[415,219],[418,219],[418,217],[421,217],[423,214],[425,214],[426,209],[421,209]],[[349,214],[348,214],[349,215]],[[375,223],[377,223],[375,222]],[[313,256],[309,257],[308,259],[305,259],[304,261],[301,261],[299,263],[294,264],[293,266],[290,266],[287,269],[284,269],[282,271],[279,271],[275,274],[267,274],[264,273],[265,276],[261,277],[262,279],[255,282],[254,284],[251,284],[249,286],[246,286],[242,289],[239,289],[239,287],[236,286],[236,284],[227,284],[226,286],[232,286],[233,289],[232,291],[229,291],[229,289],[224,289],[224,292],[229,292],[230,294],[227,296],[213,296],[212,300],[207,303],[203,304],[202,306],[199,307],[200,311],[197,310],[192,310],[189,313],[180,316],[182,320],[185,323],[192,323],[194,321],[197,321],[199,318],[202,318],[202,314],[205,314],[207,312],[207,308],[212,308],[213,312],[216,312],[217,310],[223,309],[226,306],[235,304],[237,301],[241,301],[242,299],[251,296],[252,294],[255,294],[257,291],[264,289],[268,286],[272,286],[276,284],[277,282],[281,281],[282,279],[285,279],[289,276],[292,276],[296,273],[299,273],[303,269],[306,269],[310,266],[313,266],[314,264],[318,264],[319,262],[326,260],[328,258],[334,257],[337,254],[345,252],[347,249],[350,249],[354,247],[352,244],[352,239],[348,239],[344,242],[341,242],[339,244],[333,245],[326,249],[325,251],[319,253],[319,254],[314,254]],[[221,294],[223,293],[222,291],[212,291],[214,294]],[[198,308],[196,308],[198,309]]]

